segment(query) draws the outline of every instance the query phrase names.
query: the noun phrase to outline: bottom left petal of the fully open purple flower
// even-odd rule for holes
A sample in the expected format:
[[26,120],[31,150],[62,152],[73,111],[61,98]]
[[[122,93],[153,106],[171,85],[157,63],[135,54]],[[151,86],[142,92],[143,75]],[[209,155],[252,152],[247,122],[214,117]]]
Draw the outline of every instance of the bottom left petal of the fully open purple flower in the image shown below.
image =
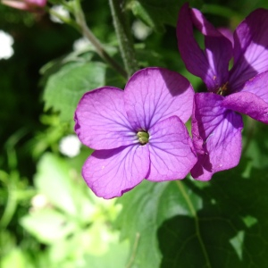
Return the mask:
[[97,197],[121,197],[149,170],[148,146],[134,145],[95,151],[84,163],[82,176]]

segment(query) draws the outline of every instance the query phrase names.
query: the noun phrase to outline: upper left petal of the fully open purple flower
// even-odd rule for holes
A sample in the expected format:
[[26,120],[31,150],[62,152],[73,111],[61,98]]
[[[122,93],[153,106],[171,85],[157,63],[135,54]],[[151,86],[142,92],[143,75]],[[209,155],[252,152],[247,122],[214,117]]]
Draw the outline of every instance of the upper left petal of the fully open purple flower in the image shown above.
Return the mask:
[[112,149],[137,143],[124,110],[124,92],[99,88],[86,93],[75,112],[75,131],[80,141],[93,149]]

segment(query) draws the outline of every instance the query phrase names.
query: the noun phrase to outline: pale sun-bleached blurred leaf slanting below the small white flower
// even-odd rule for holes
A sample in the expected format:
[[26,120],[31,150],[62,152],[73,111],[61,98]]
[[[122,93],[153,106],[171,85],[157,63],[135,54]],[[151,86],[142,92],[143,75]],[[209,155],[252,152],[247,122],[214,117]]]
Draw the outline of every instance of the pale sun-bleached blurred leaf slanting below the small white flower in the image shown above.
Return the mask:
[[[81,158],[83,161],[85,157]],[[92,198],[80,173],[67,161],[53,154],[43,155],[38,163],[35,184],[39,193],[64,213],[73,216],[78,222],[91,221],[95,213]]]

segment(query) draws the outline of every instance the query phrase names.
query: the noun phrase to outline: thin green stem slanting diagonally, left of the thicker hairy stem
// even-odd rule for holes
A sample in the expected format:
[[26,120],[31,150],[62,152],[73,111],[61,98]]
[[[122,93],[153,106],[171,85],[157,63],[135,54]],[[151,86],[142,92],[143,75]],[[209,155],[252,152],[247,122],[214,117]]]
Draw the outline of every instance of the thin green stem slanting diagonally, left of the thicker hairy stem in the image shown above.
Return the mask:
[[88,38],[90,43],[95,46],[96,53],[99,54],[99,56],[105,60],[105,62],[109,63],[111,67],[115,71],[118,71],[122,77],[127,79],[128,75],[127,72],[121,67],[120,64],[116,63],[113,58],[107,54],[105,51],[105,48],[102,46],[100,41],[95,37],[95,35],[92,33],[92,31],[88,28],[85,15],[81,9],[80,1],[76,1],[74,5],[74,15],[76,19],[76,23],[80,29],[80,33],[85,37]]

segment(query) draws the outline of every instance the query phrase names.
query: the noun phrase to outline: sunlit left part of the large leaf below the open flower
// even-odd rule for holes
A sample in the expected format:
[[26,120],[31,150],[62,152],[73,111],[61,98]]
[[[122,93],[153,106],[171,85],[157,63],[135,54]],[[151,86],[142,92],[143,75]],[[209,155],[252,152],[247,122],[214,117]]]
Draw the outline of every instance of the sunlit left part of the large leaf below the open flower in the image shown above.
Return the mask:
[[176,214],[191,214],[184,195],[192,200],[194,209],[201,208],[201,199],[188,188],[182,187],[181,193],[178,185],[182,182],[178,183],[145,180],[118,199],[123,209],[116,226],[121,229],[121,239],[130,239],[130,267],[159,267],[162,255],[158,249],[157,228]]

